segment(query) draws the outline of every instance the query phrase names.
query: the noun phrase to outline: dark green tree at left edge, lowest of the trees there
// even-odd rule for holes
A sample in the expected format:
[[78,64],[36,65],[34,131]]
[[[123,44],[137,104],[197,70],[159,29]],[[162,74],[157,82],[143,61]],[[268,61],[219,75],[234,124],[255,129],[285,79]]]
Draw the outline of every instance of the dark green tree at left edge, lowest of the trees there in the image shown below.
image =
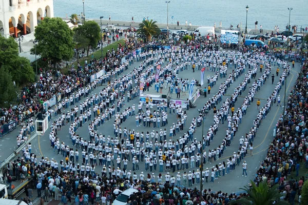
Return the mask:
[[17,99],[12,76],[5,69],[0,69],[0,107],[9,107]]

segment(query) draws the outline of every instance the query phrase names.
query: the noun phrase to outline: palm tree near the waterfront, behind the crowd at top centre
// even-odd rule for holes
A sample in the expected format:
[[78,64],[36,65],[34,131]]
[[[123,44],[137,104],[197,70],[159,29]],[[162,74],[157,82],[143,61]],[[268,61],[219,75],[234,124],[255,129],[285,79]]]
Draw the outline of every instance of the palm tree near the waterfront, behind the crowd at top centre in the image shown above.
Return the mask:
[[148,41],[152,39],[153,35],[159,35],[161,30],[156,25],[156,21],[151,20],[143,20],[141,24],[139,24],[139,29],[137,30],[137,34],[144,35]]

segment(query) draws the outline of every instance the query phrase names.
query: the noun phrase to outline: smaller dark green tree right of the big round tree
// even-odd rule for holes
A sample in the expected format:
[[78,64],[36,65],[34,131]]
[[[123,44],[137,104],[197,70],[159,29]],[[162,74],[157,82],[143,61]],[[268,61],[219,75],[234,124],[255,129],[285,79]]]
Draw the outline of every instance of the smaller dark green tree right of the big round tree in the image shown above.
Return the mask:
[[[74,29],[75,32],[75,40],[78,38],[78,43],[80,45],[84,45],[86,48],[87,56],[89,55],[90,48],[96,48],[98,41],[101,39],[101,28],[98,23],[93,20],[87,20],[83,23],[82,26]],[[84,38],[84,40],[82,40]]]

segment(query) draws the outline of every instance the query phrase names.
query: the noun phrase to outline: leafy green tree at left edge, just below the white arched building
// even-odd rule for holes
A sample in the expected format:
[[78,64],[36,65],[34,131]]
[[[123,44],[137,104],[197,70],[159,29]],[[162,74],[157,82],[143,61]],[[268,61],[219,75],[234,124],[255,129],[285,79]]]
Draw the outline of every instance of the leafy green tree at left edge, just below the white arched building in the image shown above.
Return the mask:
[[18,44],[14,38],[0,37],[0,68],[8,72],[16,84],[34,81],[35,73],[30,61],[18,55]]

